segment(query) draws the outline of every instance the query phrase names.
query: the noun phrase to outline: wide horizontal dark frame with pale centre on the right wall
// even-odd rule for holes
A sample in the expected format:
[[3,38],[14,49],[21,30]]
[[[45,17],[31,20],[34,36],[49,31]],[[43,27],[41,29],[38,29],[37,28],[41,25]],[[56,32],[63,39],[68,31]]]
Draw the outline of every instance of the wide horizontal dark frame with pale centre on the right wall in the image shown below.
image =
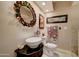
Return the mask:
[[68,15],[58,15],[53,17],[48,17],[46,19],[47,24],[49,23],[67,23]]

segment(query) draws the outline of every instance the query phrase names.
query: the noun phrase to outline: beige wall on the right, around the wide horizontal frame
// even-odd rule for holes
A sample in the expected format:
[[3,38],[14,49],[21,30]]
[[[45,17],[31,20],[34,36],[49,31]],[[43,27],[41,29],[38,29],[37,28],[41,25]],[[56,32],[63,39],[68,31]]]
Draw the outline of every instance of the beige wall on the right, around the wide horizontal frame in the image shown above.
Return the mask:
[[[59,48],[66,49],[69,51],[77,52],[77,30],[79,29],[79,4],[73,5],[71,8],[61,11],[55,11],[46,14],[47,17],[55,16],[55,15],[63,15],[68,14],[68,22],[61,24],[50,24],[50,25],[58,25],[61,27],[59,30],[59,38],[56,43]],[[50,26],[46,24],[47,26]],[[64,29],[67,27],[67,29]]]

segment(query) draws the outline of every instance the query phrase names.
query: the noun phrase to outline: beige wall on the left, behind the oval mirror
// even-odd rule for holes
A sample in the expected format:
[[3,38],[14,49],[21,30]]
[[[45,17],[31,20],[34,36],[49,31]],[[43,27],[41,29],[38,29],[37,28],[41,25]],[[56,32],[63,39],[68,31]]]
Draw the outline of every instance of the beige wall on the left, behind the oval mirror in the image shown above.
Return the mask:
[[32,4],[37,22],[31,30],[25,30],[14,17],[14,2],[0,2],[0,56],[14,56],[14,50],[24,44],[25,38],[34,35],[34,31],[38,28],[39,13],[44,15],[40,9]]

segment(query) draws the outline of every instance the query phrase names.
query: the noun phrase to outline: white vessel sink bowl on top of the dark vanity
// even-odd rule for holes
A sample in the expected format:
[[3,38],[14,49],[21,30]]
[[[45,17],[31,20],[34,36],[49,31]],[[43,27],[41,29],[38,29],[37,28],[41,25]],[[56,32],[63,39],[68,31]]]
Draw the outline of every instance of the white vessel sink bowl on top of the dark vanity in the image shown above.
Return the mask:
[[42,43],[41,37],[31,37],[26,39],[26,44],[30,48],[37,48],[40,43]]

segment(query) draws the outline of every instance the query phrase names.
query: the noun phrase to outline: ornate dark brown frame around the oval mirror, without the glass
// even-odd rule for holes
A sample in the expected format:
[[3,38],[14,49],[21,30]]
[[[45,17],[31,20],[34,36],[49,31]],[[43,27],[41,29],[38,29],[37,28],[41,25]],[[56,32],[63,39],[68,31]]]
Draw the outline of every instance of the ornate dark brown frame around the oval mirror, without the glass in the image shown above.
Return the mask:
[[[32,14],[32,20],[28,23],[23,19],[22,15],[21,15],[21,11],[20,11],[20,8],[22,6],[25,6],[27,7],[29,10],[30,10],[30,13]],[[19,22],[23,25],[23,26],[27,26],[27,27],[33,27],[36,23],[36,14],[35,14],[35,11],[34,9],[32,8],[31,4],[28,3],[27,1],[16,1],[14,3],[14,10],[16,12],[15,16],[16,18],[19,20]]]

